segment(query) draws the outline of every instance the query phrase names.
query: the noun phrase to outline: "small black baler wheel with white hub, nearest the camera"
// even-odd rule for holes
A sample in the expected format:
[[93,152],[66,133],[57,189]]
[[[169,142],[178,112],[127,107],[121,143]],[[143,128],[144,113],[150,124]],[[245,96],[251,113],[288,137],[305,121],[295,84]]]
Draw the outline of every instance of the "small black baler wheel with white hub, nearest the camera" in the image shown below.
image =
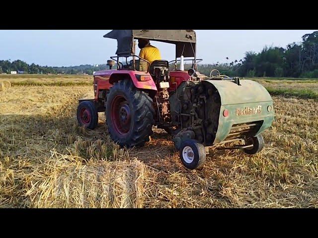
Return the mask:
[[201,169],[205,163],[205,148],[197,140],[183,141],[179,153],[182,164],[190,170]]

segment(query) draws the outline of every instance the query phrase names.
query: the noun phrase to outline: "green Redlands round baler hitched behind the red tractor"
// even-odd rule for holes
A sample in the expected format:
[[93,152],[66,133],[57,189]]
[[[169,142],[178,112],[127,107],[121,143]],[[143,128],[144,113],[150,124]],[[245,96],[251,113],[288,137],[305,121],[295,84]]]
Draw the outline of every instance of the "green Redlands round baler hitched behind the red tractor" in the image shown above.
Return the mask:
[[[184,82],[170,97],[170,106],[171,115],[180,115],[183,128],[173,142],[188,168],[198,168],[205,160],[195,158],[198,144],[204,145],[206,153],[211,146],[231,142],[239,145],[228,149],[259,152],[264,146],[261,133],[274,120],[273,101],[267,90],[255,81],[238,77]],[[195,140],[192,150],[188,140]]]

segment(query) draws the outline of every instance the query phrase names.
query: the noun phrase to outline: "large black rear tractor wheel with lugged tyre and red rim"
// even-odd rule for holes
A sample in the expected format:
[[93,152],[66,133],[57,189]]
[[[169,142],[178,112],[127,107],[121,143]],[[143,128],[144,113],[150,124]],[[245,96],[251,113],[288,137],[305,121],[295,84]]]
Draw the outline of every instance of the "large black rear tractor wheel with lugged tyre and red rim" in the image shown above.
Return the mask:
[[153,100],[135,88],[131,80],[119,80],[110,88],[106,117],[110,137],[121,147],[143,146],[153,133]]

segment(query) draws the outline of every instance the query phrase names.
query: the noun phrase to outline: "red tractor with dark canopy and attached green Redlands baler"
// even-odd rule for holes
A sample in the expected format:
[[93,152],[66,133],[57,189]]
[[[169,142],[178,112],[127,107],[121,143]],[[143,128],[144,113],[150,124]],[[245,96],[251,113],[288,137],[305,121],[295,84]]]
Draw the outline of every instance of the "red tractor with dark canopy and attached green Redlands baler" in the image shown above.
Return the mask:
[[[240,145],[231,149],[248,154],[263,148],[260,133],[274,119],[270,95],[251,80],[217,70],[210,77],[198,73],[193,30],[113,30],[104,37],[117,40],[117,56],[107,60],[109,70],[94,73],[94,99],[79,100],[80,125],[94,129],[98,112],[105,112],[109,134],[122,147],[143,146],[155,125],[174,136],[189,169],[201,168],[215,144],[238,141]],[[174,44],[175,60],[150,64],[135,55],[135,39]],[[187,71],[183,58],[192,64]]]

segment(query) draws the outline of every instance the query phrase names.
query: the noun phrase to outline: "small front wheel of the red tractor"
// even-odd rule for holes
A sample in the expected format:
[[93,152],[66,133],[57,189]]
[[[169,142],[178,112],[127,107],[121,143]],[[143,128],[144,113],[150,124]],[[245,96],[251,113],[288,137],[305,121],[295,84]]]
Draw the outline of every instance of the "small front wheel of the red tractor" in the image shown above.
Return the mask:
[[95,129],[98,123],[98,113],[96,107],[91,101],[82,101],[77,109],[77,119],[80,126],[88,129]]

